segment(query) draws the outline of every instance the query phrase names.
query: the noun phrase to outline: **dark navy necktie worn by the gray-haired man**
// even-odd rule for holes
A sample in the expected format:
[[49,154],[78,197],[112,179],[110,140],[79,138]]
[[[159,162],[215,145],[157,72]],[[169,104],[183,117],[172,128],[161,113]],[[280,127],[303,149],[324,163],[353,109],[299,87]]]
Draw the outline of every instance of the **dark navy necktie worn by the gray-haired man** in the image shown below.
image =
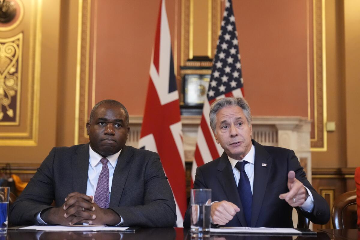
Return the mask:
[[240,195],[241,204],[243,205],[243,211],[246,218],[248,227],[251,224],[251,205],[252,205],[252,193],[248,176],[245,172],[245,164],[248,162],[238,162],[235,167],[240,171],[240,179],[238,184],[238,192]]

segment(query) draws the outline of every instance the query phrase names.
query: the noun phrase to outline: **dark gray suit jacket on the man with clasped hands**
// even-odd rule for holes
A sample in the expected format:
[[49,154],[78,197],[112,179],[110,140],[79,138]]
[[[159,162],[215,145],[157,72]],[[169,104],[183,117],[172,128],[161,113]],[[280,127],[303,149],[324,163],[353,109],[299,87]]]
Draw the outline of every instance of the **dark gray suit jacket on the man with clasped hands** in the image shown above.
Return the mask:
[[[37,225],[35,215],[55,200],[63,205],[72,192],[86,194],[89,144],[53,148],[10,208],[14,225]],[[174,196],[159,160],[148,150],[124,146],[116,164],[110,208],[123,218],[123,226],[173,227]]]

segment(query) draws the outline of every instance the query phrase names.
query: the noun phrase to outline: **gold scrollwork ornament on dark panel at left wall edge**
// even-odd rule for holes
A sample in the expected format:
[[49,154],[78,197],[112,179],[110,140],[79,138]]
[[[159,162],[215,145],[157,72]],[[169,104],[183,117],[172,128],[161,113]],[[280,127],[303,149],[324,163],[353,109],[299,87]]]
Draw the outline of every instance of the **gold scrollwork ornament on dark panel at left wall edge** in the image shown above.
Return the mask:
[[[0,122],[3,120],[4,114],[14,118],[14,109],[10,107],[10,104],[12,101],[16,102],[18,93],[21,45],[22,33],[12,39],[0,39]],[[3,106],[6,108],[5,113]]]

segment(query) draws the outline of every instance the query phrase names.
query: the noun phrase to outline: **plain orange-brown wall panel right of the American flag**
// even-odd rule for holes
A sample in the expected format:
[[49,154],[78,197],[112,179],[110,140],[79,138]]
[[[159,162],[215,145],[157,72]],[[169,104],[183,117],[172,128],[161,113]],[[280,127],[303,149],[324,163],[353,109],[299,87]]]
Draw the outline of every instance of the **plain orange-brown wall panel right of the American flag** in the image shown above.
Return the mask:
[[306,1],[234,1],[253,115],[307,117]]

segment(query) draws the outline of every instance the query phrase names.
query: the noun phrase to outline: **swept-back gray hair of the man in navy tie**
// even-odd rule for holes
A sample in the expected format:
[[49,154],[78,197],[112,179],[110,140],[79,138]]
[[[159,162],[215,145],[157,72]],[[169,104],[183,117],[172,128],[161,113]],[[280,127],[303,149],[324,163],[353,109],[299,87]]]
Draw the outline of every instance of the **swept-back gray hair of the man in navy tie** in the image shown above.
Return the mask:
[[218,100],[214,101],[210,106],[210,127],[211,127],[212,131],[215,132],[215,129],[216,129],[216,114],[217,114],[217,112],[219,112],[222,108],[225,108],[228,106],[233,106],[233,107],[238,106],[241,109],[243,109],[246,120],[247,120],[249,126],[251,126],[251,120],[252,120],[251,111],[250,111],[250,107],[249,107],[249,104],[247,103],[247,101],[240,97],[238,97],[238,98],[228,97],[228,98],[218,99]]

